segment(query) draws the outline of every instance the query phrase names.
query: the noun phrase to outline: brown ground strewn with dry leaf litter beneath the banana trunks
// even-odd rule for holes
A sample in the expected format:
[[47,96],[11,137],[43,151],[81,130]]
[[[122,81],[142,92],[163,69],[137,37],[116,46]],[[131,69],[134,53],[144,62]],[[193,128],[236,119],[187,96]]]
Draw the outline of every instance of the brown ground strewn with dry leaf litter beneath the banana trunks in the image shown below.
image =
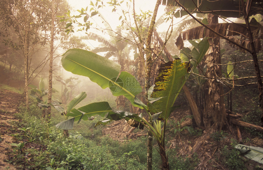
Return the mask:
[[[174,122],[182,120],[185,116],[190,115],[190,110],[177,110],[172,113],[170,122],[174,124]],[[185,119],[186,123],[192,124],[191,119]],[[127,129],[124,131],[124,129]],[[226,127],[223,129],[224,137],[219,141],[213,139],[213,134],[208,131],[203,131],[200,135],[192,136],[189,134],[188,130],[183,130],[182,132],[175,135],[173,133],[174,129],[178,128],[176,126],[169,127],[167,131],[166,138],[169,139],[166,146],[166,150],[174,149],[177,152],[177,156],[181,157],[194,157],[197,155],[199,164],[195,167],[197,170],[228,170],[229,168],[222,163],[224,156],[222,155],[222,150],[224,146],[231,146],[233,139],[237,140],[237,132],[236,126],[231,125],[229,121],[226,124]],[[144,130],[135,130],[136,132],[128,133],[132,127],[127,127],[127,123],[124,120],[115,121],[107,126],[103,130],[104,135],[110,136],[112,139],[118,140],[120,142],[125,141],[126,139],[136,139],[139,136],[146,136],[147,131]],[[252,134],[245,131],[245,129],[240,128],[243,139],[247,139],[244,141],[244,144],[247,146],[258,146],[263,147],[263,139],[259,137],[255,137]],[[157,148],[157,146],[155,146]],[[233,149],[233,148],[228,148]],[[245,166],[248,170],[255,169],[263,169],[262,164],[245,158]]]

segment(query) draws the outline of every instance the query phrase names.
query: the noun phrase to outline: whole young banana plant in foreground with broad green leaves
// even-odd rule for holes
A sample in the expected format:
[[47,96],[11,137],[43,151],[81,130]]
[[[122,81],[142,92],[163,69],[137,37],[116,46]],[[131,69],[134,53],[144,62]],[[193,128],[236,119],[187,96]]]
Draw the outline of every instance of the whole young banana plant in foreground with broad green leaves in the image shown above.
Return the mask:
[[[202,60],[209,47],[206,38],[200,44],[200,48],[193,50],[193,60],[195,61],[193,68]],[[108,102],[102,101],[69,110],[66,116],[71,118],[57,124],[57,128],[71,129],[75,121],[87,120],[88,117],[93,115],[102,117],[107,115],[104,120],[99,121],[95,126],[105,125],[110,121],[120,119],[127,121],[132,119],[138,122],[136,126],[143,125],[152,132],[159,146],[162,167],[163,169],[169,169],[168,157],[165,154],[165,127],[170,114],[175,109],[173,107],[174,102],[189,77],[187,71],[191,70],[190,62],[182,63],[180,59],[175,59],[161,64],[155,85],[147,92],[148,103],[143,103],[136,97],[142,92],[136,78],[127,72],[120,72],[120,65],[111,60],[82,49],[69,49],[63,54],[61,63],[65,70],[87,76],[103,89],[108,87],[114,96],[125,96],[133,106],[145,110],[149,116],[149,121],[138,114],[113,110]]]

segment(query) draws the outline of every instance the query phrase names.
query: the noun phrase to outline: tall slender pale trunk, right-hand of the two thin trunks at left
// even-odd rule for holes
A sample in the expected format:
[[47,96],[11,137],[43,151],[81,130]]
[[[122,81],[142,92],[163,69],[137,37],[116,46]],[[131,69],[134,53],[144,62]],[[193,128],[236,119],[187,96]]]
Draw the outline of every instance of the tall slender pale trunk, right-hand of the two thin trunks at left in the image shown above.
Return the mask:
[[[48,94],[47,100],[50,104],[52,102],[52,71],[53,71],[53,53],[54,53],[54,27],[55,27],[55,4],[52,1],[52,16],[51,16],[51,35],[50,35],[50,58],[49,58],[49,75],[48,75]],[[47,108],[47,121],[51,119],[51,106]]]

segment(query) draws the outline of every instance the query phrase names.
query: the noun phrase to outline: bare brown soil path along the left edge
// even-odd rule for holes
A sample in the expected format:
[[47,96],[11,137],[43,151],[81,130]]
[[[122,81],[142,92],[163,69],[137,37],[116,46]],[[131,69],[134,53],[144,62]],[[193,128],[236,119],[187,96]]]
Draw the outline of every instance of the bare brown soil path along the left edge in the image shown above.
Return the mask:
[[16,169],[5,160],[11,150],[11,143],[14,143],[12,134],[17,133],[14,125],[19,121],[14,114],[18,112],[18,107],[23,100],[21,94],[6,89],[0,89],[0,169]]

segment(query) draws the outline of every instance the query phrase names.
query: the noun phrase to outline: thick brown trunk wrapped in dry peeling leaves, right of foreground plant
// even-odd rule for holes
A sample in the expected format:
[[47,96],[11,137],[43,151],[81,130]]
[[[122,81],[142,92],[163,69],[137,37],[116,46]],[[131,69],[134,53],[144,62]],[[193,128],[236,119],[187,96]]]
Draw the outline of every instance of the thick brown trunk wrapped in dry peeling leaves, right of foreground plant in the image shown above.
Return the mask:
[[[208,14],[209,24],[218,23],[218,17],[213,14]],[[207,64],[206,76],[222,77],[220,56],[220,39],[209,38],[210,50],[206,56]],[[216,80],[208,80],[204,85],[205,89],[205,106],[203,110],[203,122],[205,128],[209,128],[214,124],[214,130],[221,130],[226,121],[226,112],[224,106],[224,92],[222,83]]]

